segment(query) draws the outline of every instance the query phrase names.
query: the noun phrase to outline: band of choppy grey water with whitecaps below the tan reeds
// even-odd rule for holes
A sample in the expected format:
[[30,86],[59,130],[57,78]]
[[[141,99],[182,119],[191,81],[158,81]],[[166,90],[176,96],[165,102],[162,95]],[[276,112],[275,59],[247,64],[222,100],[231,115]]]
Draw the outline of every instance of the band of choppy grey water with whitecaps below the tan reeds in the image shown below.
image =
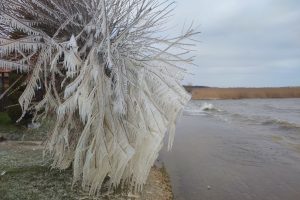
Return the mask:
[[246,99],[191,101],[184,115],[203,115],[253,128],[300,134],[300,99]]

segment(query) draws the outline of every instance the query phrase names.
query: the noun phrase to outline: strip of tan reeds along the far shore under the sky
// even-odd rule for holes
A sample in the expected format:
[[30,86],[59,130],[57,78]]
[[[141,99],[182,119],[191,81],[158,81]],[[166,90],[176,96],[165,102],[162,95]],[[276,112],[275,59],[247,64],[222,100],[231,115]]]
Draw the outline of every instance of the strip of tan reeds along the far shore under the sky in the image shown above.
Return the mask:
[[192,99],[300,98],[300,87],[216,88],[185,86]]

